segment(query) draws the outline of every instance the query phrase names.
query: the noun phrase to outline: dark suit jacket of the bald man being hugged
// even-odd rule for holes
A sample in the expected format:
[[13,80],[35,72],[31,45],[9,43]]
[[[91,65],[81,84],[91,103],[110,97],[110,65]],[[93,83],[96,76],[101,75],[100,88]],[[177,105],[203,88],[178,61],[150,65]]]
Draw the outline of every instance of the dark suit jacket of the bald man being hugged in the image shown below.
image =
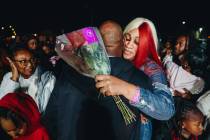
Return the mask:
[[[151,89],[151,81],[132,63],[110,58],[111,74],[133,84]],[[139,116],[139,111],[123,101]],[[49,100],[43,116],[53,139],[57,140],[137,140],[138,121],[125,125],[112,97],[99,97],[94,79],[78,74],[67,64]]]

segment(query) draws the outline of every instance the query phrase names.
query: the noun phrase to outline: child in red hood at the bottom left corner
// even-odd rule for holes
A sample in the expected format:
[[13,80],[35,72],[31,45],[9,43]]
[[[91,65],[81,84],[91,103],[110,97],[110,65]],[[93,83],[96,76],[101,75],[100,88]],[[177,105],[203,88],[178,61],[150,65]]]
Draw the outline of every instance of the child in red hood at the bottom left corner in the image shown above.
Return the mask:
[[36,103],[25,93],[9,93],[0,100],[0,126],[13,140],[49,140]]

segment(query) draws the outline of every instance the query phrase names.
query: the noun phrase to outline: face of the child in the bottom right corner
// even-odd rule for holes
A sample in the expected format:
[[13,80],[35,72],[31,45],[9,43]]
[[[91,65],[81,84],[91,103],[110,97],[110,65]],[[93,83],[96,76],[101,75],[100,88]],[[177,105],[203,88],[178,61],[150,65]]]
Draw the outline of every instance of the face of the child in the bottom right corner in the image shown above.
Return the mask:
[[203,132],[204,117],[201,113],[190,112],[183,121],[183,128],[191,135],[198,136]]

